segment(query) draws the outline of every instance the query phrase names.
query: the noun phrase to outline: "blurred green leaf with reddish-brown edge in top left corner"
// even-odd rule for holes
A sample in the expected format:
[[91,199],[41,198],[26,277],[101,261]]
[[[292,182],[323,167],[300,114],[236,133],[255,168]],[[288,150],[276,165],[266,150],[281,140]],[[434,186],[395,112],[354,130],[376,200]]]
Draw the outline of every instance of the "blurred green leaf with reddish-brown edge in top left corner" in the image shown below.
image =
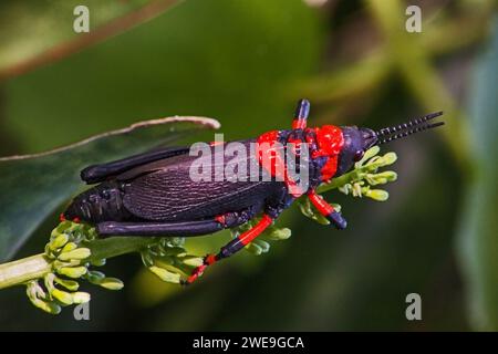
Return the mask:
[[[87,38],[95,40],[115,35],[129,27],[147,20],[151,15],[166,10],[175,1],[154,8],[148,7],[149,15],[137,15],[137,12],[146,11],[147,3],[152,0],[86,0],[84,3],[77,0],[55,1],[2,1],[0,3],[0,76],[2,74],[14,75],[24,72],[27,62],[34,64],[40,61],[52,62],[61,53],[73,52],[74,48],[82,49],[92,44]],[[73,22],[76,19],[73,11],[76,6],[84,4],[89,8],[90,33],[76,33]],[[126,14],[135,12],[134,19],[126,19]],[[15,14],[15,15],[12,15]],[[121,19],[118,19],[121,18]],[[118,19],[116,21],[116,19]],[[104,25],[113,22],[112,29]],[[40,35],[43,33],[43,35]],[[81,41],[86,37],[85,41]],[[76,43],[80,41],[80,43]],[[71,44],[69,44],[71,43]],[[44,59],[44,60],[40,60]]]

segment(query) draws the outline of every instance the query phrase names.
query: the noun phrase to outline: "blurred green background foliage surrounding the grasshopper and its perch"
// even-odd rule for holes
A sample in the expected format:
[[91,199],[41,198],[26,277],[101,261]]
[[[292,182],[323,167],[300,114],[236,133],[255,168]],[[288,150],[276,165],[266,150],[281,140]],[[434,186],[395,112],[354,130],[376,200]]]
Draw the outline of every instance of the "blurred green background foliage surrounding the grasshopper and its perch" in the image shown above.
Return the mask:
[[[76,4],[90,9],[87,41],[73,32]],[[422,33],[405,30],[408,4]],[[0,291],[0,330],[498,330],[496,14],[487,0],[2,1],[0,156],[176,114],[251,137],[288,127],[300,97],[311,125],[378,128],[438,110],[447,125],[384,148],[398,155],[386,202],[326,196],[346,231],[291,208],[289,240],[188,289],[135,254],[111,259],[125,288],[89,287],[91,321],[42,313],[19,287]],[[41,252],[55,220],[14,258]],[[422,321],[405,317],[412,292]]]

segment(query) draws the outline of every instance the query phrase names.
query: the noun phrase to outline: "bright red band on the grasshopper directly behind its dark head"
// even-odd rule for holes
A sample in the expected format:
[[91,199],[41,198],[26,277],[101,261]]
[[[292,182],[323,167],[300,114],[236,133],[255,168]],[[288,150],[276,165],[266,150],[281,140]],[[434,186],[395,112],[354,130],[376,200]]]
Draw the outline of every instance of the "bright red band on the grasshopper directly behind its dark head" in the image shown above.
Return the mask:
[[[344,137],[340,127],[334,125],[324,125],[322,127],[312,128],[315,135],[317,149],[311,153],[311,158],[328,156],[325,165],[321,169],[322,180],[330,180],[338,170],[338,158],[344,146]],[[313,143],[309,138],[308,143]]]

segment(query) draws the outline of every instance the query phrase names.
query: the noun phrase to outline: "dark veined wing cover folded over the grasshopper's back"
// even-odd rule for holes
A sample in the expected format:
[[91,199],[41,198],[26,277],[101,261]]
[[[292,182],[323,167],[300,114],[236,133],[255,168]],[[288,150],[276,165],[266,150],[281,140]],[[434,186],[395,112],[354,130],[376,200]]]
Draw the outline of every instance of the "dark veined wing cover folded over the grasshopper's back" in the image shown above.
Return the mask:
[[[249,140],[243,142],[249,152]],[[135,217],[146,220],[195,220],[255,207],[262,209],[267,200],[281,189],[281,183],[215,181],[215,155],[211,147],[211,181],[193,181],[190,166],[198,156],[174,156],[132,168],[116,177],[124,181],[124,206]],[[249,169],[251,156],[222,157],[234,164],[246,159]],[[240,166],[240,165],[239,165]]]

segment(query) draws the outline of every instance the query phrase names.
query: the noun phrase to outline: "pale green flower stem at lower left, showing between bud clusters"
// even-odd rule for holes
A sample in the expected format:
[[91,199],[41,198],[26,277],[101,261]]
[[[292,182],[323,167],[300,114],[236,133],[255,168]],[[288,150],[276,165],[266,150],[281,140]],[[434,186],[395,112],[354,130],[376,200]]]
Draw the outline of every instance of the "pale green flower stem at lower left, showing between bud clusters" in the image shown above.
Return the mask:
[[[90,248],[92,256],[83,262],[139,252],[154,242],[156,242],[156,238],[149,237],[113,237],[95,240],[84,244],[84,247]],[[52,260],[44,253],[0,264],[0,289],[43,278],[51,271]]]

